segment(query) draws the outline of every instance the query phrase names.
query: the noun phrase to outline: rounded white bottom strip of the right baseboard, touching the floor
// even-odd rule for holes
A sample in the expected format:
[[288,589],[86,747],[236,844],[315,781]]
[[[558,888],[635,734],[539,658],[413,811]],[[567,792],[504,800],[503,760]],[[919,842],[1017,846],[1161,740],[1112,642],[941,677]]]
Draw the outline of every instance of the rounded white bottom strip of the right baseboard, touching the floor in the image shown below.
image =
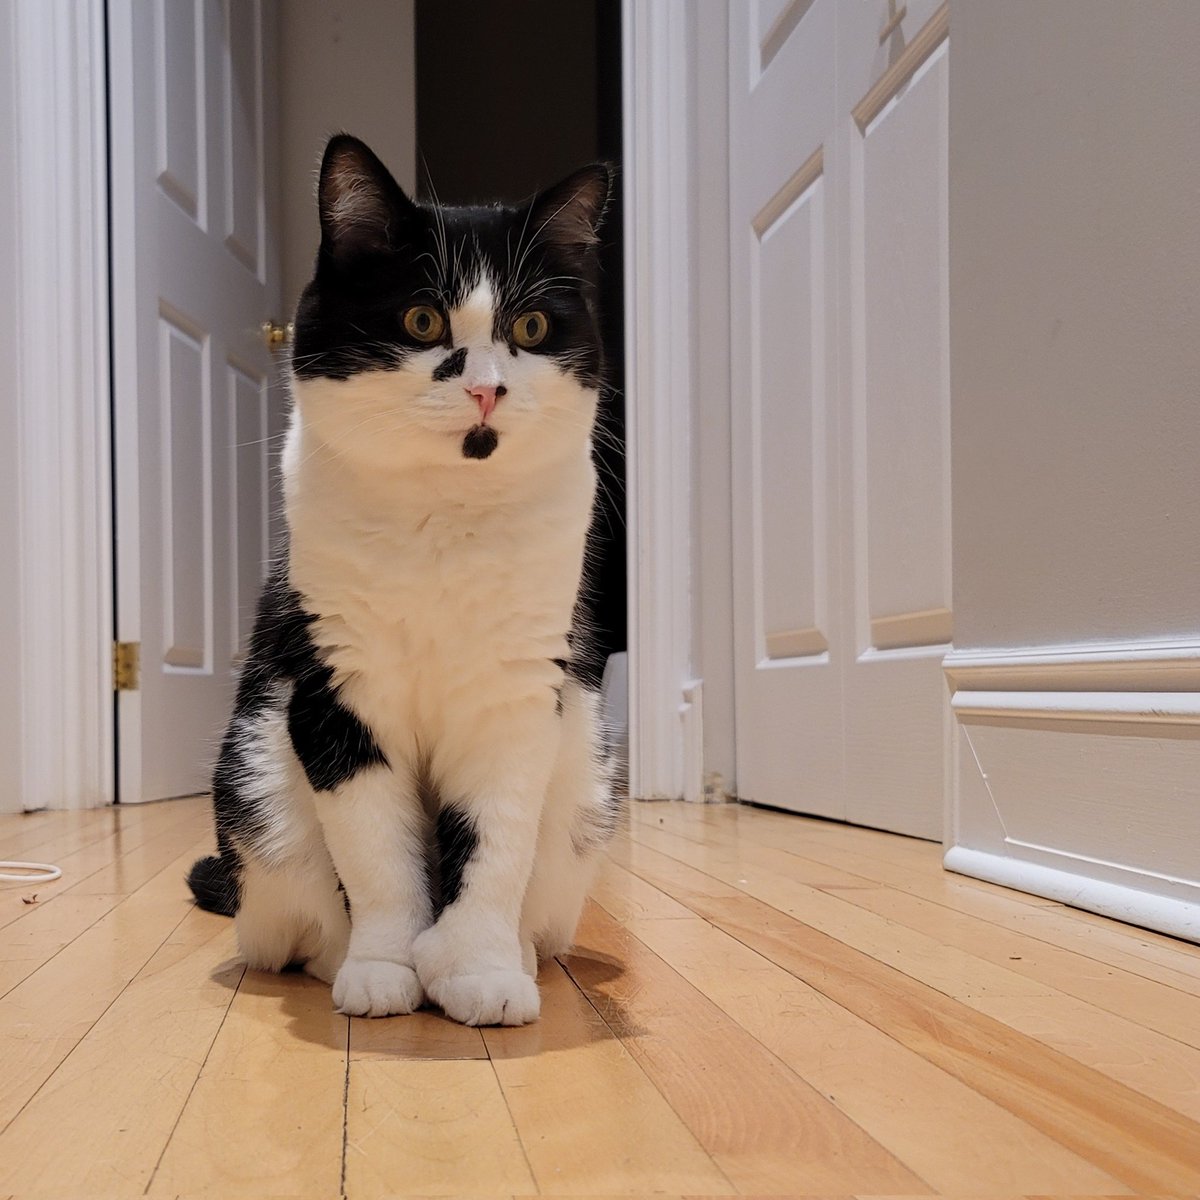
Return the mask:
[[1074,908],[1153,929],[1171,937],[1200,942],[1200,888],[1193,902],[965,846],[952,846],[946,852],[944,864],[947,870],[959,875],[1058,900]]

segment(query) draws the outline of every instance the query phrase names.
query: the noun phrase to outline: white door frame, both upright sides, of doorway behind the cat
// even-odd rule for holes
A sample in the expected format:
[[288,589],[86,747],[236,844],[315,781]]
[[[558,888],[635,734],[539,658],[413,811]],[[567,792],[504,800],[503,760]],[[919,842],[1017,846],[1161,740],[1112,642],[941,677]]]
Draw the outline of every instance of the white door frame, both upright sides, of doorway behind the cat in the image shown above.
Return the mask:
[[[698,798],[686,4],[623,6],[631,792]],[[0,809],[115,799],[104,10],[13,6],[23,764]]]

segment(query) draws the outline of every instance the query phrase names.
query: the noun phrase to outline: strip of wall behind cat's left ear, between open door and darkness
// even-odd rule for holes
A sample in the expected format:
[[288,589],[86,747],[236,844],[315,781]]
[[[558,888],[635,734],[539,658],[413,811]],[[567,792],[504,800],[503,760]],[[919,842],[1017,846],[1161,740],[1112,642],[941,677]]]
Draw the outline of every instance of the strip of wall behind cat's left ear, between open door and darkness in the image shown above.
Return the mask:
[[325,140],[362,138],[406,190],[416,182],[414,0],[284,0],[280,6],[283,306],[290,314],[320,240]]

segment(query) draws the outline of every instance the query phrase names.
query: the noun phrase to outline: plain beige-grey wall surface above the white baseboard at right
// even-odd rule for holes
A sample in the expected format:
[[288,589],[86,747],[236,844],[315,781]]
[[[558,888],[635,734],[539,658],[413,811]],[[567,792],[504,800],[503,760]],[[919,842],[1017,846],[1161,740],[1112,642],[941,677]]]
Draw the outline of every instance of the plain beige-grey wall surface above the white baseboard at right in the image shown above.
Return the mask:
[[1200,631],[1200,4],[953,0],[954,641]]

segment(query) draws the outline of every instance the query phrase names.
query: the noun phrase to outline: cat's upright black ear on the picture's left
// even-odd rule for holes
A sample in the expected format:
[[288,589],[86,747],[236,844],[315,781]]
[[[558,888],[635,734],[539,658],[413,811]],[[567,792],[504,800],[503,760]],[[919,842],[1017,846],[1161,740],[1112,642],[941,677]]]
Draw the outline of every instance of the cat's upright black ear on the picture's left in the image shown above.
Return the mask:
[[322,251],[335,260],[396,250],[416,206],[366,143],[336,133],[317,187]]

